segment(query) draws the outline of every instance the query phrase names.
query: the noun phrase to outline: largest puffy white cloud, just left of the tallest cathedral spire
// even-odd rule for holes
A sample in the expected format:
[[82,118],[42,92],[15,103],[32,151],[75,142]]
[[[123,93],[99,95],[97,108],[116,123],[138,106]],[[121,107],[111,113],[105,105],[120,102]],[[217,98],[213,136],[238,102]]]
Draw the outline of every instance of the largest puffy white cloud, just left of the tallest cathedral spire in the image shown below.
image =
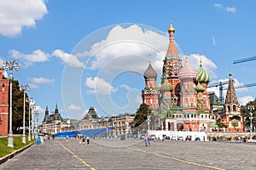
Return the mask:
[[[86,57],[94,57],[90,61],[90,69],[108,69],[144,71],[145,60],[151,54],[151,61],[163,59],[168,46],[168,37],[159,32],[132,25],[128,27],[114,26],[106,39],[95,42]],[[134,62],[137,59],[137,62]],[[160,65],[161,67],[162,65]]]

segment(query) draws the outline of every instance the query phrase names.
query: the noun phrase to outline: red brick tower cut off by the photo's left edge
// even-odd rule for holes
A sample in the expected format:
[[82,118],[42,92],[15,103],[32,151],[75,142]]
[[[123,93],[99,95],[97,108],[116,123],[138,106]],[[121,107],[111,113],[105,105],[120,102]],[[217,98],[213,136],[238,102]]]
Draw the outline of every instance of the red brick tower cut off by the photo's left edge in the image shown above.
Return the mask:
[[9,79],[3,77],[0,68],[0,135],[7,135],[9,128]]

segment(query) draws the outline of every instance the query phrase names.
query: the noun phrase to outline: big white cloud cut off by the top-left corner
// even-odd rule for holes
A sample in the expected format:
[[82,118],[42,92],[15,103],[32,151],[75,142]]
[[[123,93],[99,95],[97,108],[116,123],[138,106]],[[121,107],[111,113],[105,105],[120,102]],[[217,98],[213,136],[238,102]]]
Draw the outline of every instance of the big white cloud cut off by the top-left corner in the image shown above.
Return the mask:
[[44,0],[1,0],[0,34],[15,37],[23,27],[34,27],[47,14]]

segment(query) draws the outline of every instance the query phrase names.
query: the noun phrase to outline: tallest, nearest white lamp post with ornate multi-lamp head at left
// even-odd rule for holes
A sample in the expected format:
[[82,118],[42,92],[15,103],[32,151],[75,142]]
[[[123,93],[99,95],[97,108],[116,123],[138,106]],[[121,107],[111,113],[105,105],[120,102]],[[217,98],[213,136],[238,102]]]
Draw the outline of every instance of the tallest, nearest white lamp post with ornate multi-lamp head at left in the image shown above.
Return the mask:
[[12,125],[12,116],[13,116],[13,108],[12,108],[12,97],[13,97],[13,68],[16,71],[19,71],[19,63],[17,61],[4,61],[3,69],[8,71],[9,69],[9,133],[8,133],[8,144],[7,146],[10,148],[14,148],[14,135],[13,135],[13,125]]

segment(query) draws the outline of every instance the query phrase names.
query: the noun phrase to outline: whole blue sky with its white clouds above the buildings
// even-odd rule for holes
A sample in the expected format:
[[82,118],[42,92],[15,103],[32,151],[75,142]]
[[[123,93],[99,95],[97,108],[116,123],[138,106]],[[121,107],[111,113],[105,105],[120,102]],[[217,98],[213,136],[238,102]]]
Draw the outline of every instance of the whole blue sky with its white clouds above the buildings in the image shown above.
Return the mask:
[[[40,111],[81,119],[93,106],[101,116],[133,113],[141,103],[143,71],[151,60],[160,71],[171,20],[181,58],[197,71],[199,54],[211,82],[256,82],[254,1],[84,1],[0,2],[0,65],[17,60],[13,76],[29,84]],[[209,89],[216,91],[217,88]],[[241,105],[256,88],[236,91]],[[218,90],[216,91],[218,94]],[[225,97],[225,94],[224,94]],[[21,113],[20,113],[21,114]]]

